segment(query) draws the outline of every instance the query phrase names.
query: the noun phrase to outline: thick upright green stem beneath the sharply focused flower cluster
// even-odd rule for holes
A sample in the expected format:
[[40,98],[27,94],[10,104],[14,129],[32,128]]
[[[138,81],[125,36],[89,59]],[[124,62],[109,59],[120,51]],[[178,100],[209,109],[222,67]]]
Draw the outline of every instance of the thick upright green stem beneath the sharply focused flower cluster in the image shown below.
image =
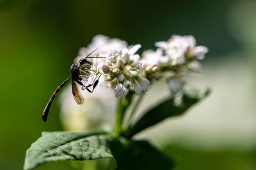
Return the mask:
[[117,109],[116,109],[116,125],[115,125],[115,131],[114,135],[116,137],[119,137],[120,131],[121,131],[121,125],[123,121],[124,113],[123,113],[123,98],[121,97],[118,100],[117,103]]

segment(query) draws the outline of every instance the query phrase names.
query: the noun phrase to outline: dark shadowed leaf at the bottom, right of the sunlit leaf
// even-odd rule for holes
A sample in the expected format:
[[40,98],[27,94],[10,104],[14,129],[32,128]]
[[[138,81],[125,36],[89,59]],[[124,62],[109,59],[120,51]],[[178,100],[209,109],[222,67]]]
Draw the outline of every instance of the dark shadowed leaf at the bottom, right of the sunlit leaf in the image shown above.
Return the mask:
[[170,170],[175,161],[159,152],[148,141],[129,141],[124,138],[114,140],[111,152],[115,155],[117,170]]

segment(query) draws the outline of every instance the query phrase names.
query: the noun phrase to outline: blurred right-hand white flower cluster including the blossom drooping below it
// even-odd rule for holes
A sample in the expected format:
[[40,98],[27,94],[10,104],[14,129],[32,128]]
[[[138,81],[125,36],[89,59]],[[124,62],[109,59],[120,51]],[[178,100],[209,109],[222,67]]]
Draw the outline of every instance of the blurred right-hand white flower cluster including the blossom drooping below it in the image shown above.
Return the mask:
[[153,81],[163,77],[166,72],[170,77],[171,73],[169,87],[173,94],[184,86],[184,81],[181,80],[184,70],[200,72],[202,66],[198,60],[204,59],[208,52],[207,47],[196,46],[193,36],[174,35],[168,41],[160,41],[155,45],[156,51],[147,50],[142,55],[145,76]]

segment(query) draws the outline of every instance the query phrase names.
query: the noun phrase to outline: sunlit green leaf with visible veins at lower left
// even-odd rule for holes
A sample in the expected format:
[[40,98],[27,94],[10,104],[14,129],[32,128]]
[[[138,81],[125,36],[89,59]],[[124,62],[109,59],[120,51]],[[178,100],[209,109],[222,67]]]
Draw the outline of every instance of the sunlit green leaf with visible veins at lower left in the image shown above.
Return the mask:
[[27,150],[24,169],[56,160],[113,159],[111,139],[106,132],[43,132]]

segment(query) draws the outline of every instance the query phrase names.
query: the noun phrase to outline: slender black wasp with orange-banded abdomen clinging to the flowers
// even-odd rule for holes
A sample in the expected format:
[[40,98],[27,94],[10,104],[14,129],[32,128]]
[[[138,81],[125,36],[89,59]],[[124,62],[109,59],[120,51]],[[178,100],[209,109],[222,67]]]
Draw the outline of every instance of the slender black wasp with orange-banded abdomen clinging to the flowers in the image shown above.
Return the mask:
[[[93,52],[95,52],[95,50],[93,50]],[[44,109],[44,112],[43,112],[43,117],[42,117],[44,122],[46,122],[46,120],[47,120],[47,116],[48,116],[49,110],[51,108],[52,101],[57,96],[60,89],[67,83],[68,80],[70,80],[70,78],[71,78],[71,85],[72,85],[72,94],[73,94],[74,99],[75,99],[77,104],[83,104],[84,103],[84,98],[81,95],[81,93],[79,92],[79,89],[77,87],[77,83],[82,86],[82,90],[86,89],[86,90],[88,90],[88,92],[91,92],[91,93],[93,92],[93,90],[95,89],[95,87],[99,83],[100,76],[99,75],[95,76],[95,75],[89,74],[86,71],[81,70],[82,65],[84,65],[84,64],[92,65],[93,64],[92,62],[87,60],[88,58],[105,58],[105,57],[89,57],[89,55],[91,55],[93,52],[88,54],[85,58],[82,58],[81,60],[79,60],[79,65],[78,66],[77,66],[77,64],[72,64],[71,65],[71,67],[70,67],[70,77],[68,77],[67,80],[65,80],[63,83],[61,83],[60,86],[58,86],[58,88],[52,94],[51,99],[49,100],[49,102],[45,106],[45,109]],[[89,76],[81,75],[81,72],[86,73]],[[88,80],[88,83],[86,85],[84,85],[82,83],[82,80],[83,80],[82,76],[86,77],[86,78],[89,77],[89,79],[91,79],[90,82]],[[91,86],[93,86],[92,90],[88,89]]]

